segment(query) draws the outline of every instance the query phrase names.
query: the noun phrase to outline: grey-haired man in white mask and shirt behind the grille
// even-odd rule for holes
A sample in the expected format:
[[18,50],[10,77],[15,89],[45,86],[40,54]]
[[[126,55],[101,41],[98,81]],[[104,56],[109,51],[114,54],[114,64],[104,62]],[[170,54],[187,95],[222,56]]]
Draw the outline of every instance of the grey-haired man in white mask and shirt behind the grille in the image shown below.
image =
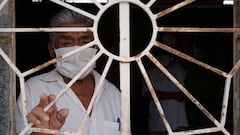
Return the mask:
[[[52,27],[90,27],[92,20],[73,11],[64,9],[51,20]],[[50,34],[48,44],[52,57],[61,56],[93,40],[92,32],[58,32]],[[100,74],[93,64],[78,78],[70,89],[47,111],[44,108],[55,99],[66,84],[94,57],[96,47],[86,48],[79,53],[58,61],[56,68],[29,79],[26,82],[28,122],[33,127],[57,129],[62,131],[79,130],[86,110],[99,82]],[[107,80],[104,81],[93,109],[90,113],[83,135],[119,135],[120,92]],[[17,133],[24,125],[21,96],[17,101]],[[33,132],[32,135],[43,133]],[[46,134],[44,134],[46,135]]]

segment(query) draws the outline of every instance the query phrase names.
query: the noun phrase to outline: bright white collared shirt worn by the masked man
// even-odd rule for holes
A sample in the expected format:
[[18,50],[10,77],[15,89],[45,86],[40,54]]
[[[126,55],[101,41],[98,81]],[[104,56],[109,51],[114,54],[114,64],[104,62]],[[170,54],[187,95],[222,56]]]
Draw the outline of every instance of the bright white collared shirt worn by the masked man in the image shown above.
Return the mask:
[[[100,75],[92,72],[95,78],[95,86]],[[66,86],[62,77],[56,70],[38,75],[26,82],[26,97],[28,112],[35,107],[42,93],[57,95]],[[17,133],[25,127],[21,97],[17,101],[16,123]],[[57,108],[68,108],[69,115],[65,120],[62,131],[77,132],[86,114],[86,109],[74,92],[69,89],[57,102]],[[120,135],[120,92],[107,80],[102,85],[102,90],[96,98],[91,116],[84,128],[83,135]]]

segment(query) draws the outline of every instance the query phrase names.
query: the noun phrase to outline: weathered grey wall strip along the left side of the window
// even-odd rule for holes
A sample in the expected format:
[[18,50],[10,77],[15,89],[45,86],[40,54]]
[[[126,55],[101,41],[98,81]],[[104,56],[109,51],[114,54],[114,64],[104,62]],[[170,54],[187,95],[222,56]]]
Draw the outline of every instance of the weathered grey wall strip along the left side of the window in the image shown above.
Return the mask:
[[[2,3],[2,0],[0,0]],[[0,27],[13,27],[15,24],[13,1],[0,11]],[[15,61],[14,35],[0,33],[0,47]],[[0,57],[0,134],[14,135],[15,77],[8,64]]]

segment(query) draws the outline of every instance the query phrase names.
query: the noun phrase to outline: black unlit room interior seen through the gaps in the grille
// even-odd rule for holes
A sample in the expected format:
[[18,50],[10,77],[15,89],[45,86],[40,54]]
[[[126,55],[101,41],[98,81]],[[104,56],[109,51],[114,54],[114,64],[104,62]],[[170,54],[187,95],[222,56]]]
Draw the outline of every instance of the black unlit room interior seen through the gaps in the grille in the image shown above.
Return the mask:
[[[145,0],[146,1],[146,0]],[[160,0],[159,0],[160,1]],[[152,11],[159,12],[181,0],[171,2],[156,2]],[[224,6],[219,0],[200,0],[194,4],[178,9],[157,20],[158,26],[172,27],[203,27],[228,28],[233,27],[233,7]],[[93,14],[98,10],[93,4],[74,4]],[[16,27],[48,27],[53,14],[62,7],[43,1],[32,3],[30,0],[16,1]],[[131,4],[131,55],[137,55],[148,44],[152,26],[146,13],[136,5]],[[111,7],[104,13],[98,29],[101,42],[107,50],[118,55],[118,5]],[[232,33],[158,33],[158,41],[162,41],[165,34],[176,37],[177,49],[211,66],[229,72],[232,68]],[[47,50],[47,33],[17,33],[16,34],[17,66],[23,72],[50,60]],[[188,71],[185,83],[189,92],[199,100],[203,106],[220,120],[223,88],[225,79],[186,60],[180,59]],[[98,61],[97,70],[102,71],[106,62],[103,56]],[[148,60],[144,59],[146,68],[150,68]],[[33,75],[49,71],[50,66]],[[147,101],[141,97],[143,77],[135,62],[131,63],[131,128],[133,135],[147,133]],[[31,75],[31,76],[33,76]],[[29,76],[29,77],[31,77]],[[27,77],[27,78],[29,78]],[[114,61],[107,78],[119,87],[118,62]],[[229,99],[226,128],[232,132],[232,95]],[[202,128],[213,125],[189,100],[186,100],[189,129]],[[213,133],[211,133],[213,134]],[[216,133],[223,134],[223,133]]]

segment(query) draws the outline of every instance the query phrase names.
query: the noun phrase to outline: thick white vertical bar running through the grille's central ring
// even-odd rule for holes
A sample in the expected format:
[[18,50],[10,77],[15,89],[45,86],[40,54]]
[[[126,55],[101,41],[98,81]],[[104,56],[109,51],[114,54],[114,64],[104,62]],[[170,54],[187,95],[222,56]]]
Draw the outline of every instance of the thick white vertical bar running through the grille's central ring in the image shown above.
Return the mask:
[[[119,3],[120,57],[130,56],[129,3]],[[130,63],[120,62],[121,135],[130,135]]]

